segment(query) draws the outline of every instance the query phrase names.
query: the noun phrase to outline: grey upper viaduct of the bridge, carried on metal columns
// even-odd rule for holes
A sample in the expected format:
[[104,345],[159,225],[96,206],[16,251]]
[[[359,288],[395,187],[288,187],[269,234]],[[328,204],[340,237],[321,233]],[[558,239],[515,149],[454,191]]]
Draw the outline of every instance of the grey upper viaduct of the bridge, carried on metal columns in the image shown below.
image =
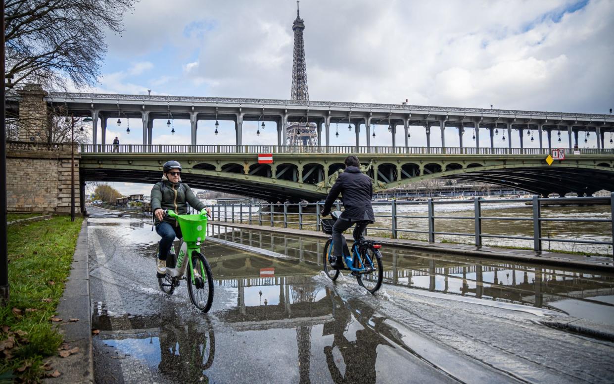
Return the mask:
[[[152,144],[153,120],[187,119],[191,125],[191,143],[196,145],[196,131],[217,130],[215,123],[229,120],[235,123],[236,145],[243,145],[243,122],[257,121],[275,123],[277,144],[288,144],[286,127],[288,122],[315,123],[318,143],[331,145],[332,124],[346,124],[354,130],[356,146],[360,146],[361,133],[364,146],[370,147],[372,124],[388,125],[392,146],[397,146],[397,127],[402,127],[405,147],[410,147],[410,127],[426,130],[427,147],[431,147],[431,136],[440,128],[441,147],[446,147],[446,127],[454,127],[459,135],[459,146],[463,145],[463,133],[473,129],[475,147],[480,145],[480,134],[488,134],[490,147],[494,149],[494,136],[501,131],[507,137],[511,149],[512,131],[524,147],[524,130],[537,131],[540,148],[553,147],[552,135],[568,136],[569,148],[578,143],[578,135],[595,135],[597,148],[604,148],[605,133],[614,131],[612,114],[582,114],[569,112],[518,111],[510,109],[454,108],[447,106],[417,106],[410,104],[340,103],[333,101],[300,101],[257,98],[219,98],[196,96],[159,95],[112,95],[106,93],[44,92],[33,85],[7,95],[7,108],[19,114],[20,103],[28,98],[44,100],[47,108],[64,114],[88,116],[93,119],[92,143],[106,144],[107,121],[140,119],[142,122],[142,143]],[[26,103],[29,106],[36,103]],[[24,111],[29,111],[23,108]],[[38,107],[36,107],[38,108]],[[31,109],[31,108],[30,108]],[[202,125],[200,125],[202,123]],[[101,138],[98,140],[98,124]],[[542,132],[547,134],[543,142]],[[527,136],[528,138],[528,136]],[[27,141],[25,138],[21,140]],[[188,144],[188,143],[185,143]]]

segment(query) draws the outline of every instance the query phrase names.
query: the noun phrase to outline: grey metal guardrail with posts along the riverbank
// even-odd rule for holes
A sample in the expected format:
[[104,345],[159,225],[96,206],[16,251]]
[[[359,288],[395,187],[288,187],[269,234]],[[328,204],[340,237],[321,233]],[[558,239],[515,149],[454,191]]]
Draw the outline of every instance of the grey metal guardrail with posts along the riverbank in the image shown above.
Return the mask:
[[[584,217],[544,217],[542,216],[542,205],[544,203],[557,204],[562,203],[600,203],[610,205],[609,218],[584,218]],[[490,203],[514,203],[530,202],[532,204],[532,215],[530,217],[508,217],[508,216],[485,216],[483,214],[483,205]],[[448,204],[467,204],[473,203],[473,215],[472,216],[441,216],[435,214],[436,205],[448,205]],[[542,243],[544,241],[559,242],[559,243],[577,243],[585,245],[608,245],[612,246],[612,252],[614,256],[614,192],[609,197],[565,197],[565,198],[540,198],[538,195],[534,195],[532,198],[513,198],[513,199],[484,199],[481,197],[475,197],[472,200],[433,200],[432,198],[426,201],[416,202],[373,202],[373,206],[390,205],[391,214],[382,215],[376,214],[377,217],[387,217],[391,219],[391,227],[368,227],[368,230],[378,230],[384,232],[390,232],[393,239],[398,238],[402,233],[421,233],[427,235],[429,243],[435,243],[436,235],[454,235],[459,237],[473,237],[475,246],[480,248],[482,246],[484,238],[505,238],[516,240],[528,240],[533,243],[533,250],[536,253],[542,252]],[[398,206],[402,205],[426,205],[426,215],[401,215],[397,214]],[[308,207],[315,209],[309,209]],[[341,203],[336,202],[338,210],[341,209]],[[298,229],[312,229],[319,231],[320,228],[320,211],[323,208],[322,203],[278,203],[278,204],[231,204],[231,205],[212,205],[212,211],[217,220],[223,222],[237,222],[239,224],[258,224],[258,225],[270,225],[271,227],[282,226],[288,228],[289,225],[295,225]],[[311,212],[306,212],[311,211]],[[289,217],[295,217],[295,221],[290,221]],[[309,217],[313,217],[314,220],[309,220]],[[426,219],[427,230],[414,230],[400,228],[398,226],[398,219]],[[442,232],[435,230],[435,221],[457,219],[462,221],[473,221],[474,233],[467,232]],[[517,235],[493,235],[484,233],[484,224],[489,221],[529,221],[532,223],[532,235],[531,236],[517,236]],[[599,240],[584,240],[581,238],[561,238],[561,237],[543,237],[542,223],[543,222],[603,222],[610,223],[612,225],[612,239],[609,241]]]

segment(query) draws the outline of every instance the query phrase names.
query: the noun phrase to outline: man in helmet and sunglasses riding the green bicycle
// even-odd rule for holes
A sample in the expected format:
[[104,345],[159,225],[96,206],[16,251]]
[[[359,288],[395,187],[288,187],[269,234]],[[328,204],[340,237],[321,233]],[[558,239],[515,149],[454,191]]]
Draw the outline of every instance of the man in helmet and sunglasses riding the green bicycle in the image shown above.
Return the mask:
[[[166,256],[168,256],[175,237],[181,238],[181,228],[173,217],[164,217],[163,210],[173,210],[177,214],[187,214],[189,204],[195,210],[204,208],[204,203],[196,198],[192,189],[181,182],[181,164],[174,160],[164,163],[162,181],[157,182],[151,192],[155,230],[162,237],[158,249],[158,273],[166,272]],[[207,208],[211,213],[211,209]]]

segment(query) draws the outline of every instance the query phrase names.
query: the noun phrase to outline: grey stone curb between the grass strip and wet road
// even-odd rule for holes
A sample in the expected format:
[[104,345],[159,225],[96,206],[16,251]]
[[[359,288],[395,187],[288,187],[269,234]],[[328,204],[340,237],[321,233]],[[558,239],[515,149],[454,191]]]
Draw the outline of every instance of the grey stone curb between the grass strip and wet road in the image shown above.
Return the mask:
[[[70,348],[79,352],[60,358],[53,356],[50,364],[60,371],[60,377],[45,378],[45,383],[93,383],[94,362],[91,345],[90,268],[87,257],[87,218],[84,219],[72,257],[71,274],[58,305],[58,317],[64,319],[60,333]],[[74,323],[66,319],[77,318]]]

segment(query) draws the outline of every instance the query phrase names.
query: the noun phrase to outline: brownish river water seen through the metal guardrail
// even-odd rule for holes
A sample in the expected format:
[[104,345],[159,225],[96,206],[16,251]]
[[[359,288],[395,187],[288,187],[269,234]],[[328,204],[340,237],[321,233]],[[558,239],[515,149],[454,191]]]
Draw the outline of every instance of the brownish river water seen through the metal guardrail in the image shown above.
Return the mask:
[[[277,214],[282,211],[281,206],[276,206],[276,214],[273,215],[273,225],[275,227],[284,226],[284,215]],[[376,215],[376,223],[371,224],[368,229],[368,234],[382,237],[391,237],[391,205],[389,203],[383,205],[374,203],[373,210]],[[519,237],[533,236],[533,208],[530,205],[525,205],[523,202],[501,202],[482,203],[482,244],[485,246],[503,246],[503,247],[521,247],[533,248],[533,240],[520,239],[505,239],[505,238],[489,238],[488,235],[510,235]],[[217,209],[214,209],[214,214],[218,214]],[[427,232],[428,220],[426,218],[403,217],[403,216],[422,216],[428,214],[428,206],[426,204],[403,204],[397,203],[397,230],[399,238],[409,238],[414,240],[428,240],[427,233],[416,233],[410,231]],[[474,203],[435,203],[435,232],[449,233],[465,233],[466,235],[435,235],[435,241],[453,242],[453,243],[475,243],[475,221]],[[298,228],[298,214],[288,213],[288,227]],[[449,218],[441,218],[449,217]],[[470,217],[464,219],[462,217]],[[499,219],[489,219],[489,217],[513,217],[515,219],[528,219],[525,221],[509,221]],[[608,219],[611,220],[612,213],[609,205],[591,205],[591,206],[542,206],[542,217],[554,218],[575,218],[575,219]],[[234,219],[235,222],[249,223],[250,214],[248,208],[243,206],[235,206]],[[252,224],[260,224],[260,214],[258,206],[252,206]],[[223,209],[219,211],[219,217],[215,217],[221,221],[232,221],[233,212],[230,207],[227,207],[226,213]],[[316,214],[303,213],[302,215],[303,229],[316,229]],[[262,212],[262,224],[271,224],[271,214],[269,211]],[[594,240],[594,241],[612,241],[612,224],[610,222],[567,222],[567,221],[543,221],[542,222],[542,238],[551,238],[551,241],[544,240],[542,249],[545,251],[569,251],[569,252],[585,252],[591,254],[609,254],[612,255],[612,245],[591,245],[581,243],[561,243],[556,239],[564,240]]]

